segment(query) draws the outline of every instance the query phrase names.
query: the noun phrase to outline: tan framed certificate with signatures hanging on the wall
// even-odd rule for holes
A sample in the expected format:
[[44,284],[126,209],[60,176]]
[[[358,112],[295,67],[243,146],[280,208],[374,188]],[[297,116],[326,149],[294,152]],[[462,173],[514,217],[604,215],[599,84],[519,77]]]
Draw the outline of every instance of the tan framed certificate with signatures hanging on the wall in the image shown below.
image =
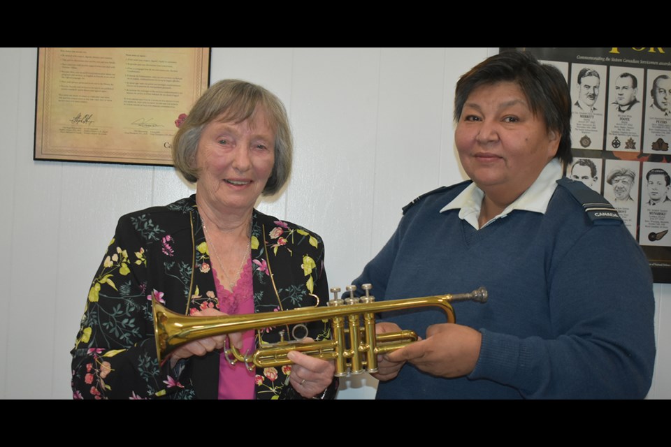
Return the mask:
[[209,48],[39,48],[34,159],[171,165],[209,76]]

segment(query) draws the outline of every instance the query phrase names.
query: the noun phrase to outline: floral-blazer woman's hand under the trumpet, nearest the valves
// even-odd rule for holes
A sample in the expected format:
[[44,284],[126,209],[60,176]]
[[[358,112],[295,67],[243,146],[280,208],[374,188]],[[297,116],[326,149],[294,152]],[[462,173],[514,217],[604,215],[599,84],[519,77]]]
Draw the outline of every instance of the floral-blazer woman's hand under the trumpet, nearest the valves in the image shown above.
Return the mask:
[[[306,338],[304,342],[312,342],[312,339]],[[331,385],[335,374],[333,361],[306,356],[298,351],[290,351],[287,353],[287,358],[294,362],[289,376],[291,386],[301,396],[310,399],[321,395]]]

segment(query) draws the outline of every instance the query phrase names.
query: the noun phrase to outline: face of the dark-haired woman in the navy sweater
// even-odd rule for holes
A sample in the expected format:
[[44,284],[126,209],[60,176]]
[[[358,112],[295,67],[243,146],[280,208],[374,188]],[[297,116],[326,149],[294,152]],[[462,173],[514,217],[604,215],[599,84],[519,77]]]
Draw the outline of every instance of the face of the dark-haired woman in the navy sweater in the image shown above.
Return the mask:
[[486,195],[512,203],[556,154],[559,136],[547,131],[514,82],[474,89],[455,132],[463,169]]

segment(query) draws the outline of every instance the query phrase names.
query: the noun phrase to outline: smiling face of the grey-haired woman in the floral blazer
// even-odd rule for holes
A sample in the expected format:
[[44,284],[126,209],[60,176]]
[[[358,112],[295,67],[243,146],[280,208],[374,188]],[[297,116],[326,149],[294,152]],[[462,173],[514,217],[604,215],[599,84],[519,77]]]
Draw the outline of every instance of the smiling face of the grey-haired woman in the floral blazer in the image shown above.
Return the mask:
[[243,122],[219,116],[201,133],[196,152],[196,193],[219,212],[251,212],[275,163],[275,132],[258,109]]

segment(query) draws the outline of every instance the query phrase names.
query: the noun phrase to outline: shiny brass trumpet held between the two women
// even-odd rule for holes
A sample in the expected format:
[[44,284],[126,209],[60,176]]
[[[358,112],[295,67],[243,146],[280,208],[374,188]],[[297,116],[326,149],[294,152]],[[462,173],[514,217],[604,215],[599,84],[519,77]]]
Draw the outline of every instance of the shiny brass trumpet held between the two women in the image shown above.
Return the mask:
[[[487,291],[484,287],[471,293],[457,295],[434,295],[421,298],[406,298],[375,302],[370,295],[372,286],[363,284],[366,296],[356,298],[356,286],[347,286],[349,298],[338,298],[340,288],[331,288],[333,298],[326,307],[302,307],[280,312],[262,312],[260,314],[203,316],[192,317],[171,312],[157,300],[152,300],[154,314],[154,334],[156,335],[157,355],[159,364],[182,344],[195,339],[214,335],[231,334],[245,330],[260,330],[277,325],[309,323],[310,321],[331,320],[332,339],[320,342],[301,343],[300,341],[282,341],[259,346],[250,356],[243,356],[234,346],[226,349],[229,362],[245,362],[247,367],[276,367],[290,365],[287,358],[289,351],[302,353],[324,360],[335,360],[335,375],[361,374],[377,372],[377,355],[401,349],[403,346],[417,341],[417,334],[412,330],[375,334],[375,314],[414,307],[440,307],[447,314],[447,322],[454,323],[454,309],[451,302],[472,300],[486,302]],[[363,324],[359,322],[363,316]]]

